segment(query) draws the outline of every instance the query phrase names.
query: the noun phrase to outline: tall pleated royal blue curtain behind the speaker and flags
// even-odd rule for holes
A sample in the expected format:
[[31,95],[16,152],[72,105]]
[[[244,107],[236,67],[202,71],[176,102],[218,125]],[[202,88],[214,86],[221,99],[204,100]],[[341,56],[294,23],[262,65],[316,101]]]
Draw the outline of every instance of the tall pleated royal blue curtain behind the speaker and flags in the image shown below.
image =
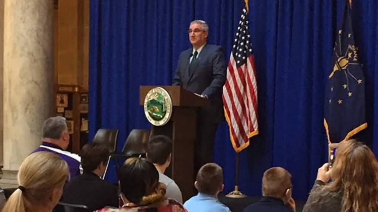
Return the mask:
[[[171,84],[179,53],[191,47],[189,23],[207,21],[209,43],[222,45],[229,58],[244,1],[91,0],[90,4],[90,138],[99,128],[117,128],[119,150],[132,129],[150,127],[139,105],[139,86]],[[281,166],[293,176],[294,197],[305,199],[318,168],[327,161],[323,103],[344,4],[344,0],[249,1],[260,134],[240,154],[239,184],[244,193],[260,195],[264,171]],[[366,76],[368,129],[358,136],[375,153],[377,4],[354,0],[352,8],[355,43]],[[229,192],[234,186],[235,152],[226,123],[217,132],[214,148]]]

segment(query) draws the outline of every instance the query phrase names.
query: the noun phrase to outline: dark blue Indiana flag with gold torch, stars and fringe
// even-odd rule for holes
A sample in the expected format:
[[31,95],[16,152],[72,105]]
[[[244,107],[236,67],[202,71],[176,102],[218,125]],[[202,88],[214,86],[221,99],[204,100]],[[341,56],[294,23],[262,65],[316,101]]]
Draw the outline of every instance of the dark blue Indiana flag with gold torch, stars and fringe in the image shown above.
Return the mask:
[[365,78],[354,45],[350,6],[345,3],[344,18],[333,49],[328,76],[325,118],[328,142],[338,143],[367,127],[365,119]]

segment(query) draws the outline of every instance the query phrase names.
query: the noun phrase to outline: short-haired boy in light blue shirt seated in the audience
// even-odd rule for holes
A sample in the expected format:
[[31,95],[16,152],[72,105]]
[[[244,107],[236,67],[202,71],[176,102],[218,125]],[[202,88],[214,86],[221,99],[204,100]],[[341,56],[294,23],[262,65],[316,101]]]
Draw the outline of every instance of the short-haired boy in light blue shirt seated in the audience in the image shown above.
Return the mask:
[[220,166],[208,163],[201,167],[194,183],[198,194],[184,203],[190,212],[230,212],[230,209],[218,200],[218,193],[224,188],[223,171]]

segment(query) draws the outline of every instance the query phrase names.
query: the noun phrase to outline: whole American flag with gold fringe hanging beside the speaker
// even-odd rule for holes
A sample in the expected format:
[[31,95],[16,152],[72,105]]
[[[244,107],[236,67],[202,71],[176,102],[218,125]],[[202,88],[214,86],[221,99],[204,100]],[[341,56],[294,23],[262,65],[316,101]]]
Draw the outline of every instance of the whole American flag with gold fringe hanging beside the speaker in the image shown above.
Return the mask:
[[240,152],[249,145],[250,137],[259,134],[256,69],[247,5],[237,27],[222,98],[232,146]]

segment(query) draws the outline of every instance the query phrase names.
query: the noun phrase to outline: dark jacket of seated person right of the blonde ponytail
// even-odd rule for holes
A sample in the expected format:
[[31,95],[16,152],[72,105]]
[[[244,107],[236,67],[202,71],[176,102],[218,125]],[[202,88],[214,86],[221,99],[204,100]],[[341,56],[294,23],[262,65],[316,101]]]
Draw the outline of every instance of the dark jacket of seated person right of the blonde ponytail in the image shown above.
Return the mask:
[[118,207],[117,187],[101,180],[92,172],[84,172],[65,186],[63,202],[84,204],[89,210],[101,209],[105,206]]

